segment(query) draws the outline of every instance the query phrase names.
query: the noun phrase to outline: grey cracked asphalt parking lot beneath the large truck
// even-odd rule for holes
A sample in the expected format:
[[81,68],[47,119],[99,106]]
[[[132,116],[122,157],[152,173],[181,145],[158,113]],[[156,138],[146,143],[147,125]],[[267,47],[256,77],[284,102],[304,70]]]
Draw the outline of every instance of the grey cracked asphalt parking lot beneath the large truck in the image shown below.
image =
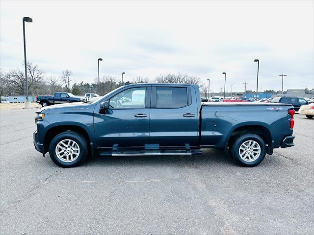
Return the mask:
[[237,166],[195,157],[95,157],[60,168],[34,149],[35,109],[0,111],[0,234],[313,234],[314,120],[295,146]]

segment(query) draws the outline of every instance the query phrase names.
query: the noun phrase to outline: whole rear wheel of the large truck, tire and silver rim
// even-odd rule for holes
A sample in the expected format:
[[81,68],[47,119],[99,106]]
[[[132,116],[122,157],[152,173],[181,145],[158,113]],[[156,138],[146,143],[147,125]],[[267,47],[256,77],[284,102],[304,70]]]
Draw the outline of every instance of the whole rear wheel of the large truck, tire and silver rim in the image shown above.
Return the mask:
[[263,161],[266,145],[259,135],[245,134],[235,139],[230,153],[237,164],[252,167]]

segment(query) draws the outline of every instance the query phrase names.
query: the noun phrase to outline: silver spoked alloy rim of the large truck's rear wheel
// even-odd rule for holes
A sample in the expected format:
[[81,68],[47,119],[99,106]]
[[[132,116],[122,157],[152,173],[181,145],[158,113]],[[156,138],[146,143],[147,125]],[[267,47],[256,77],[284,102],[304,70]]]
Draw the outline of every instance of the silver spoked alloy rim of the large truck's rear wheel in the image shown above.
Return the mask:
[[261,146],[256,141],[244,141],[239,148],[239,155],[245,162],[254,162],[261,155]]

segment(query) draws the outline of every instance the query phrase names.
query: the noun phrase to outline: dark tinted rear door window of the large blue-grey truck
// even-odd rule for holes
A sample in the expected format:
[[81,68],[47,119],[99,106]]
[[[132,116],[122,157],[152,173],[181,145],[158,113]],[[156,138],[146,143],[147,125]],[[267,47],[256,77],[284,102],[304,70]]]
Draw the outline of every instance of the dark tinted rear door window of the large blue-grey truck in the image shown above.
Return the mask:
[[156,108],[180,108],[187,105],[184,87],[156,87]]

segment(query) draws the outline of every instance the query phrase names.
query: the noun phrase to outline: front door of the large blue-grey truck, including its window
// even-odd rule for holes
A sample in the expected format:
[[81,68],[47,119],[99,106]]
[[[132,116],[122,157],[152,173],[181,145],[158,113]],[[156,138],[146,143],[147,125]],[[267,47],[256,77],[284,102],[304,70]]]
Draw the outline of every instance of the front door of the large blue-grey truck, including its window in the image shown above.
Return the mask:
[[94,109],[94,128],[100,148],[144,149],[149,144],[151,85],[126,88],[109,97],[104,113]]

